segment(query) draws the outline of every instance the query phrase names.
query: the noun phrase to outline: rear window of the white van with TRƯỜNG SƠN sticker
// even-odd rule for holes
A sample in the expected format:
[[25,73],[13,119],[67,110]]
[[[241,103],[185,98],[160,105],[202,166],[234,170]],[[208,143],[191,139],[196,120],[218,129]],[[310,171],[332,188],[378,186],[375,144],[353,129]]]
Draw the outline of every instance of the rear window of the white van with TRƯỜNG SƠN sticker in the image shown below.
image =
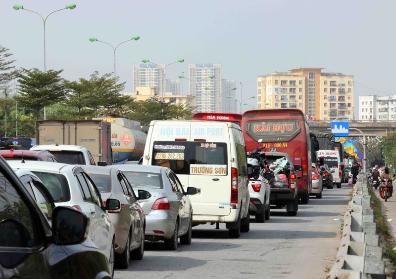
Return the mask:
[[[227,144],[218,142],[154,141],[152,165],[176,174],[227,175]],[[198,169],[199,168],[199,169]]]

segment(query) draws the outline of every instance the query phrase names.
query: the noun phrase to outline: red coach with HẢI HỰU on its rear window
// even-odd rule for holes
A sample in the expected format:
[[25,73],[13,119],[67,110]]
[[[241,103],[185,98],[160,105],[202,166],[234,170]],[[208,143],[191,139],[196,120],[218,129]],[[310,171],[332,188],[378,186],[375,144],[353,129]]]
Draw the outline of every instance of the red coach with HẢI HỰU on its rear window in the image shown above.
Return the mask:
[[[307,203],[312,188],[311,137],[307,118],[298,109],[251,110],[242,117],[242,131],[247,152],[257,148],[262,139],[263,151],[284,152],[290,155],[298,178],[298,197]],[[262,145],[260,144],[260,147]],[[314,151],[312,151],[314,152]]]

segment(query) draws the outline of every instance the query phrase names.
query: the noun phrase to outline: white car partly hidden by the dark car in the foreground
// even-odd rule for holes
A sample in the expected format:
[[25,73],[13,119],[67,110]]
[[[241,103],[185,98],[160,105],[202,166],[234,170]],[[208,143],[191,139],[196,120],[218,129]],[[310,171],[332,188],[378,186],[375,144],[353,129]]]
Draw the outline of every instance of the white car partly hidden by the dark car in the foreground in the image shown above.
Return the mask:
[[36,174],[48,189],[56,206],[72,206],[90,217],[89,237],[106,255],[110,274],[113,274],[115,233],[107,208],[112,207],[114,202],[118,202],[120,208],[120,201],[107,199],[104,206],[91,177],[79,165],[44,161],[8,163],[14,170],[25,169]]

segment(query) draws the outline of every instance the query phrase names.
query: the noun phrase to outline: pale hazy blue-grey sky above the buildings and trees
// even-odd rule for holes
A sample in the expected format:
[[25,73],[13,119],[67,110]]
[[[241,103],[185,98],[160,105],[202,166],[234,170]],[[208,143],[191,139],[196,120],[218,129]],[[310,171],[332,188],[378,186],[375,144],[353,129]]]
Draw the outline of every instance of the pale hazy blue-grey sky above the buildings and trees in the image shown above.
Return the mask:
[[[235,79],[236,98],[256,96],[257,76],[297,67],[325,68],[354,76],[358,96],[395,94],[395,0],[1,0],[0,45],[14,65],[44,71],[63,69],[66,80],[114,71],[132,91],[133,64],[149,59],[178,79],[189,64],[222,64],[223,79]],[[185,80],[187,81],[187,80]],[[241,86],[242,83],[242,86]],[[188,92],[188,82],[183,82]],[[256,106],[256,99],[246,103]],[[244,110],[251,109],[245,106]]]

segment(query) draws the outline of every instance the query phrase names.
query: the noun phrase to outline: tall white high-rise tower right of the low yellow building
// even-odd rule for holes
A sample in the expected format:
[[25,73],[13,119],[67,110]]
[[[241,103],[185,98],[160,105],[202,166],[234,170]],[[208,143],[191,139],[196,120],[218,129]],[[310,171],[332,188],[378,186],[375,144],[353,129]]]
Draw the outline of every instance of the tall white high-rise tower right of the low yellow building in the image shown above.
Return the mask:
[[[190,95],[196,97],[197,112],[220,112],[221,64],[190,64]],[[214,75],[214,78],[208,78]]]

